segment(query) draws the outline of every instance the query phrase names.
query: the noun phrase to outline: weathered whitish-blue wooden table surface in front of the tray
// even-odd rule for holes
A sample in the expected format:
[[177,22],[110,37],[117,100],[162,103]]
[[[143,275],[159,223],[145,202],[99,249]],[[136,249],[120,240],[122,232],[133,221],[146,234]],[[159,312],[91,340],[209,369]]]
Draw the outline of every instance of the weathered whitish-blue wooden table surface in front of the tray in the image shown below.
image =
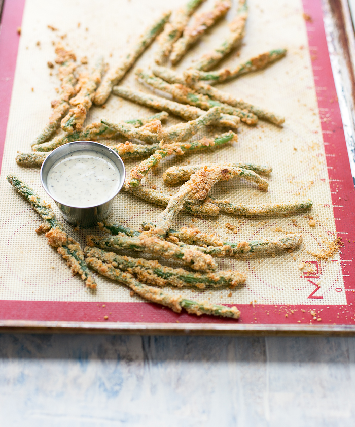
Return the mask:
[[3,427],[347,427],[354,337],[0,335]]

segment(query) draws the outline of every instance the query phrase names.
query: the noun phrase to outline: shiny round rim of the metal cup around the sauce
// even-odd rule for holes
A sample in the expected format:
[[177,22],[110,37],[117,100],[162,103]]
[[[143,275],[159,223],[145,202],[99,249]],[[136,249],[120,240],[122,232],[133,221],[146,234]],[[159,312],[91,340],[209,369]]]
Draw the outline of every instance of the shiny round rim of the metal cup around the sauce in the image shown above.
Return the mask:
[[[120,174],[120,183],[118,185],[117,191],[115,192],[115,194],[112,197],[110,197],[109,199],[100,203],[99,205],[94,204],[94,205],[90,205],[90,206],[75,206],[75,205],[68,205],[67,203],[63,203],[62,201],[57,200],[55,198],[55,196],[51,193],[51,191],[47,187],[47,175],[46,175],[46,177],[44,177],[44,170],[47,169],[48,163],[53,162],[52,165],[48,168],[47,174],[48,174],[50,168],[54,165],[55,161],[58,160],[59,158],[63,157],[64,155],[70,154],[70,153],[73,153],[76,151],[90,150],[90,149],[93,149],[93,151],[96,149],[96,151],[99,151],[102,154],[107,155],[110,158],[110,160],[114,161],[115,166],[117,167],[119,174]],[[55,160],[53,160],[53,158],[55,158]],[[123,173],[121,173],[121,171]],[[61,205],[67,206],[68,208],[92,209],[92,208],[95,208],[97,206],[101,206],[104,203],[110,202],[112,199],[114,199],[117,196],[117,194],[121,191],[123,184],[124,184],[124,181],[125,181],[125,178],[126,178],[126,168],[124,166],[122,158],[114,150],[112,150],[110,147],[108,147],[107,145],[100,144],[99,142],[95,142],[95,141],[73,141],[73,142],[68,142],[66,144],[63,144],[63,145],[57,147],[50,154],[48,154],[48,156],[45,158],[44,162],[42,163],[40,177],[41,177],[41,183],[42,183],[43,188],[45,189],[46,193],[55,202],[60,203]]]

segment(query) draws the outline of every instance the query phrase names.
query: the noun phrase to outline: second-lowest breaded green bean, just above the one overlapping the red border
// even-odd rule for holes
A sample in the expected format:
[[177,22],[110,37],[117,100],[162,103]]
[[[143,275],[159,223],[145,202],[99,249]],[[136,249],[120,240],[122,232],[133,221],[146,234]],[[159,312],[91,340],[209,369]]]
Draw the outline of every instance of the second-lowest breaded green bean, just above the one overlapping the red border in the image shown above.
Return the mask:
[[239,271],[223,271],[218,273],[197,273],[182,268],[171,268],[159,264],[156,260],[132,258],[106,252],[98,248],[84,249],[86,262],[90,266],[90,258],[97,258],[112,267],[134,274],[139,282],[152,286],[194,287],[205,289],[206,286],[221,288],[235,287],[245,282],[246,275]]

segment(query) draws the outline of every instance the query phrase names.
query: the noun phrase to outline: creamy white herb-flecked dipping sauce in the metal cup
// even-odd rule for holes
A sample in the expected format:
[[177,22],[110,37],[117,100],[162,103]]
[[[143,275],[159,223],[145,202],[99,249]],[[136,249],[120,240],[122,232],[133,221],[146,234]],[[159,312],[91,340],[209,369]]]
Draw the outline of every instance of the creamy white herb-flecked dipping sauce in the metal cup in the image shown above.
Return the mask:
[[57,160],[47,187],[57,202],[78,208],[98,206],[113,198],[120,182],[116,165],[104,154],[80,150]]

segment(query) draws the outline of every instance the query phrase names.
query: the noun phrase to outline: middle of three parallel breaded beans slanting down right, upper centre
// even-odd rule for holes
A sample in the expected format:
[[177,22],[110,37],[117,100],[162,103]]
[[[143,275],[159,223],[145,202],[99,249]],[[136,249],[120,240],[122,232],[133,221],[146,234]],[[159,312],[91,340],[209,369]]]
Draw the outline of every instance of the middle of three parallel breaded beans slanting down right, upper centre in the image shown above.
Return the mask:
[[136,70],[136,76],[138,79],[143,80],[155,89],[170,93],[175,100],[181,103],[190,104],[194,107],[201,108],[202,110],[209,110],[212,107],[220,107],[222,113],[238,116],[241,121],[246,124],[256,124],[258,122],[258,117],[255,114],[252,114],[247,110],[240,110],[239,108],[232,107],[228,104],[220,103],[219,101],[211,100],[209,96],[198,93],[186,85],[169,84],[160,77],[144,73],[141,69]]

